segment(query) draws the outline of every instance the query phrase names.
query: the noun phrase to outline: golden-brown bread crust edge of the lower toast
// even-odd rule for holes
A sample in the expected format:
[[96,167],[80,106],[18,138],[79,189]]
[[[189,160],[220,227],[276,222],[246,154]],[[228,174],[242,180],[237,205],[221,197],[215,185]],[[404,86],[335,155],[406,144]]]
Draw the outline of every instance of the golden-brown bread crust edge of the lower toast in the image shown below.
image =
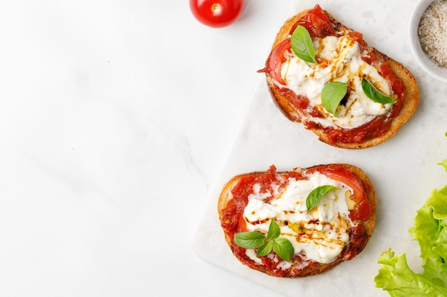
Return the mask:
[[[373,233],[373,229],[374,226],[376,224],[376,205],[377,205],[377,199],[376,199],[376,192],[373,188],[373,185],[371,184],[371,180],[368,178],[368,176],[366,175],[365,172],[363,172],[363,170],[361,170],[361,168],[356,167],[354,165],[348,165],[348,164],[340,164],[341,167],[343,167],[344,170],[348,170],[350,172],[352,172],[353,174],[355,174],[362,182],[363,184],[363,189],[366,192],[366,197],[368,199],[368,202],[371,204],[371,214],[370,217],[368,218],[368,220],[366,222],[363,221],[354,221],[354,224],[363,224],[363,226],[365,227],[365,236],[366,238],[364,238],[363,244],[366,245],[366,243],[368,242],[368,240],[371,238],[371,234]],[[318,166],[313,166],[313,167],[308,167],[308,168],[295,168],[293,169],[293,171],[298,172],[298,173],[302,173],[306,170],[311,170],[314,167],[329,167],[331,165],[318,165]],[[281,173],[281,172],[278,172]],[[222,189],[222,192],[219,196],[219,202],[218,202],[218,213],[219,213],[219,220],[220,222],[222,222],[222,219],[224,218],[224,214],[223,214],[223,210],[226,208],[228,202],[231,201],[231,199],[233,199],[233,195],[231,194],[231,190],[233,189],[233,187],[236,186],[236,184],[238,184],[239,180],[246,176],[246,175],[256,175],[256,174],[265,174],[265,172],[251,172],[248,174],[239,174],[236,175],[235,177],[231,178],[225,185],[224,188]],[[234,244],[233,240],[231,239],[230,236],[228,236],[228,234],[225,233],[225,240],[228,244],[228,246],[230,246],[231,251],[234,251],[234,249],[236,248],[236,244]],[[333,269],[333,267],[337,266],[338,264],[341,264],[343,261],[347,261],[347,260],[351,260],[354,256],[356,256],[357,254],[359,254],[363,248],[363,246],[354,246],[355,243],[350,242],[349,243],[349,253],[345,254],[343,258],[338,258],[336,259],[336,261],[333,261],[329,264],[313,264],[313,265],[307,265],[306,263],[299,263],[299,262],[294,262],[292,264],[292,266],[296,266],[296,267],[303,267],[302,269],[300,269],[300,273],[298,274],[294,274],[291,275],[291,273],[286,273],[281,277],[284,278],[299,278],[299,277],[304,277],[304,276],[313,276],[316,274],[320,274],[323,273],[324,271],[328,271]],[[243,262],[242,262],[243,263]],[[245,264],[245,263],[243,263]],[[272,273],[272,271],[268,271],[268,269],[266,269],[265,266],[254,266],[251,267],[252,269],[256,269],[258,271],[261,271],[263,273],[266,273],[268,275],[271,276],[276,276],[275,274]]]

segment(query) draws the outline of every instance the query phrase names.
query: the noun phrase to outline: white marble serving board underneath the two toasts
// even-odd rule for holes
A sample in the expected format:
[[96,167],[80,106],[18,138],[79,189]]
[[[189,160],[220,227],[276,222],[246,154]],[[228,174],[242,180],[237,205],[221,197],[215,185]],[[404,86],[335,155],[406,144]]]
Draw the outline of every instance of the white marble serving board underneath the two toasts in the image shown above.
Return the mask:
[[[436,164],[447,159],[444,116],[447,84],[423,73],[411,54],[408,20],[416,1],[300,0],[291,3],[288,14],[312,8],[317,3],[346,26],[362,32],[370,46],[410,69],[421,92],[416,114],[391,140],[377,147],[365,150],[331,147],[318,141],[303,125],[291,123],[281,114],[260,74],[241,129],[196,228],[194,245],[204,261],[284,296],[388,296],[373,281],[380,268],[378,256],[390,247],[397,254],[405,251],[410,266],[420,271],[418,245],[411,240],[408,229],[413,225],[416,210],[432,189],[447,184],[447,173]],[[281,24],[275,26],[279,28]],[[263,61],[259,64],[263,65]],[[224,183],[233,175],[267,170],[272,164],[281,171],[337,162],[361,167],[376,189],[376,229],[366,249],[332,271],[299,279],[266,276],[240,264],[224,241],[216,210]]]

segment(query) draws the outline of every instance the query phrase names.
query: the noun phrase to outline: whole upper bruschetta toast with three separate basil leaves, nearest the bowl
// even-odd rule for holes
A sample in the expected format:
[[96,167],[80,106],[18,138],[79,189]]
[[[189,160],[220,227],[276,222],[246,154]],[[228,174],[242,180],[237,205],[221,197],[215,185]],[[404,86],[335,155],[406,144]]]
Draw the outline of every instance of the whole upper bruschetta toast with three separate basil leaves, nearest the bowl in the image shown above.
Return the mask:
[[335,147],[379,145],[418,106],[411,72],[318,5],[283,24],[259,72],[266,74],[273,101],[289,120]]

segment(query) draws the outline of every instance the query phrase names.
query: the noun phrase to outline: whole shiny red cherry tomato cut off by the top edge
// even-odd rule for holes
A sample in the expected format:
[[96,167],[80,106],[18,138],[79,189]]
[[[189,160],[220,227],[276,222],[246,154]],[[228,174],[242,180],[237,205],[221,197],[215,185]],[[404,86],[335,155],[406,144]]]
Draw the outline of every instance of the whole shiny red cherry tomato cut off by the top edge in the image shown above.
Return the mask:
[[194,17],[202,24],[221,28],[233,24],[243,11],[244,0],[189,0]]

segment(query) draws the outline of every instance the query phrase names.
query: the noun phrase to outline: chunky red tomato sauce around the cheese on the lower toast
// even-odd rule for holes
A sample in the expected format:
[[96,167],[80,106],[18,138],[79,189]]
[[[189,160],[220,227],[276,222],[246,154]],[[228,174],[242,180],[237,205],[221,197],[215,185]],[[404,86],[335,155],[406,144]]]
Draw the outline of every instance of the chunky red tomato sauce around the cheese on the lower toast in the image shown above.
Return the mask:
[[[356,174],[345,170],[341,165],[321,165],[312,167],[310,170],[307,170],[306,173],[321,173],[325,174],[331,179],[339,180],[349,187],[351,187],[354,193],[351,195],[351,199],[356,202],[356,207],[351,210],[349,217],[353,222],[357,222],[356,226],[348,229],[349,234],[349,243],[340,255],[334,260],[334,262],[345,261],[348,259],[352,259],[353,256],[356,256],[361,249],[366,246],[366,241],[368,236],[366,236],[366,230],[363,224],[359,221],[367,221],[371,216],[371,204],[369,203],[366,192],[363,189],[364,184],[361,182]],[[246,255],[246,249],[241,248],[240,246],[234,243],[234,234],[241,231],[246,231],[245,220],[243,219],[243,210],[248,204],[248,196],[253,192],[254,184],[261,185],[261,193],[273,193],[273,187],[279,186],[279,191],[288,185],[288,179],[294,178],[296,180],[306,179],[302,174],[297,172],[276,172],[276,167],[272,165],[267,172],[251,174],[243,176],[238,184],[233,187],[231,194],[233,195],[233,199],[228,202],[225,209],[222,211],[222,219],[221,226],[224,229],[225,234],[231,239],[232,244],[231,248],[233,254],[241,261],[243,264],[256,269],[260,265],[263,269],[268,270],[271,274],[275,276],[283,276],[286,273],[289,273],[291,276],[298,275],[300,271],[308,268],[309,266],[316,266],[318,262],[312,260],[304,260],[299,254],[295,254],[291,259],[291,263],[300,262],[301,265],[295,266],[292,265],[288,269],[284,269],[282,266],[278,266],[278,264],[283,261],[276,255],[276,253],[272,253],[268,256],[262,256],[261,259],[262,264],[256,264],[253,260],[251,260]],[[266,197],[264,202],[269,202],[273,199],[273,196]]]

